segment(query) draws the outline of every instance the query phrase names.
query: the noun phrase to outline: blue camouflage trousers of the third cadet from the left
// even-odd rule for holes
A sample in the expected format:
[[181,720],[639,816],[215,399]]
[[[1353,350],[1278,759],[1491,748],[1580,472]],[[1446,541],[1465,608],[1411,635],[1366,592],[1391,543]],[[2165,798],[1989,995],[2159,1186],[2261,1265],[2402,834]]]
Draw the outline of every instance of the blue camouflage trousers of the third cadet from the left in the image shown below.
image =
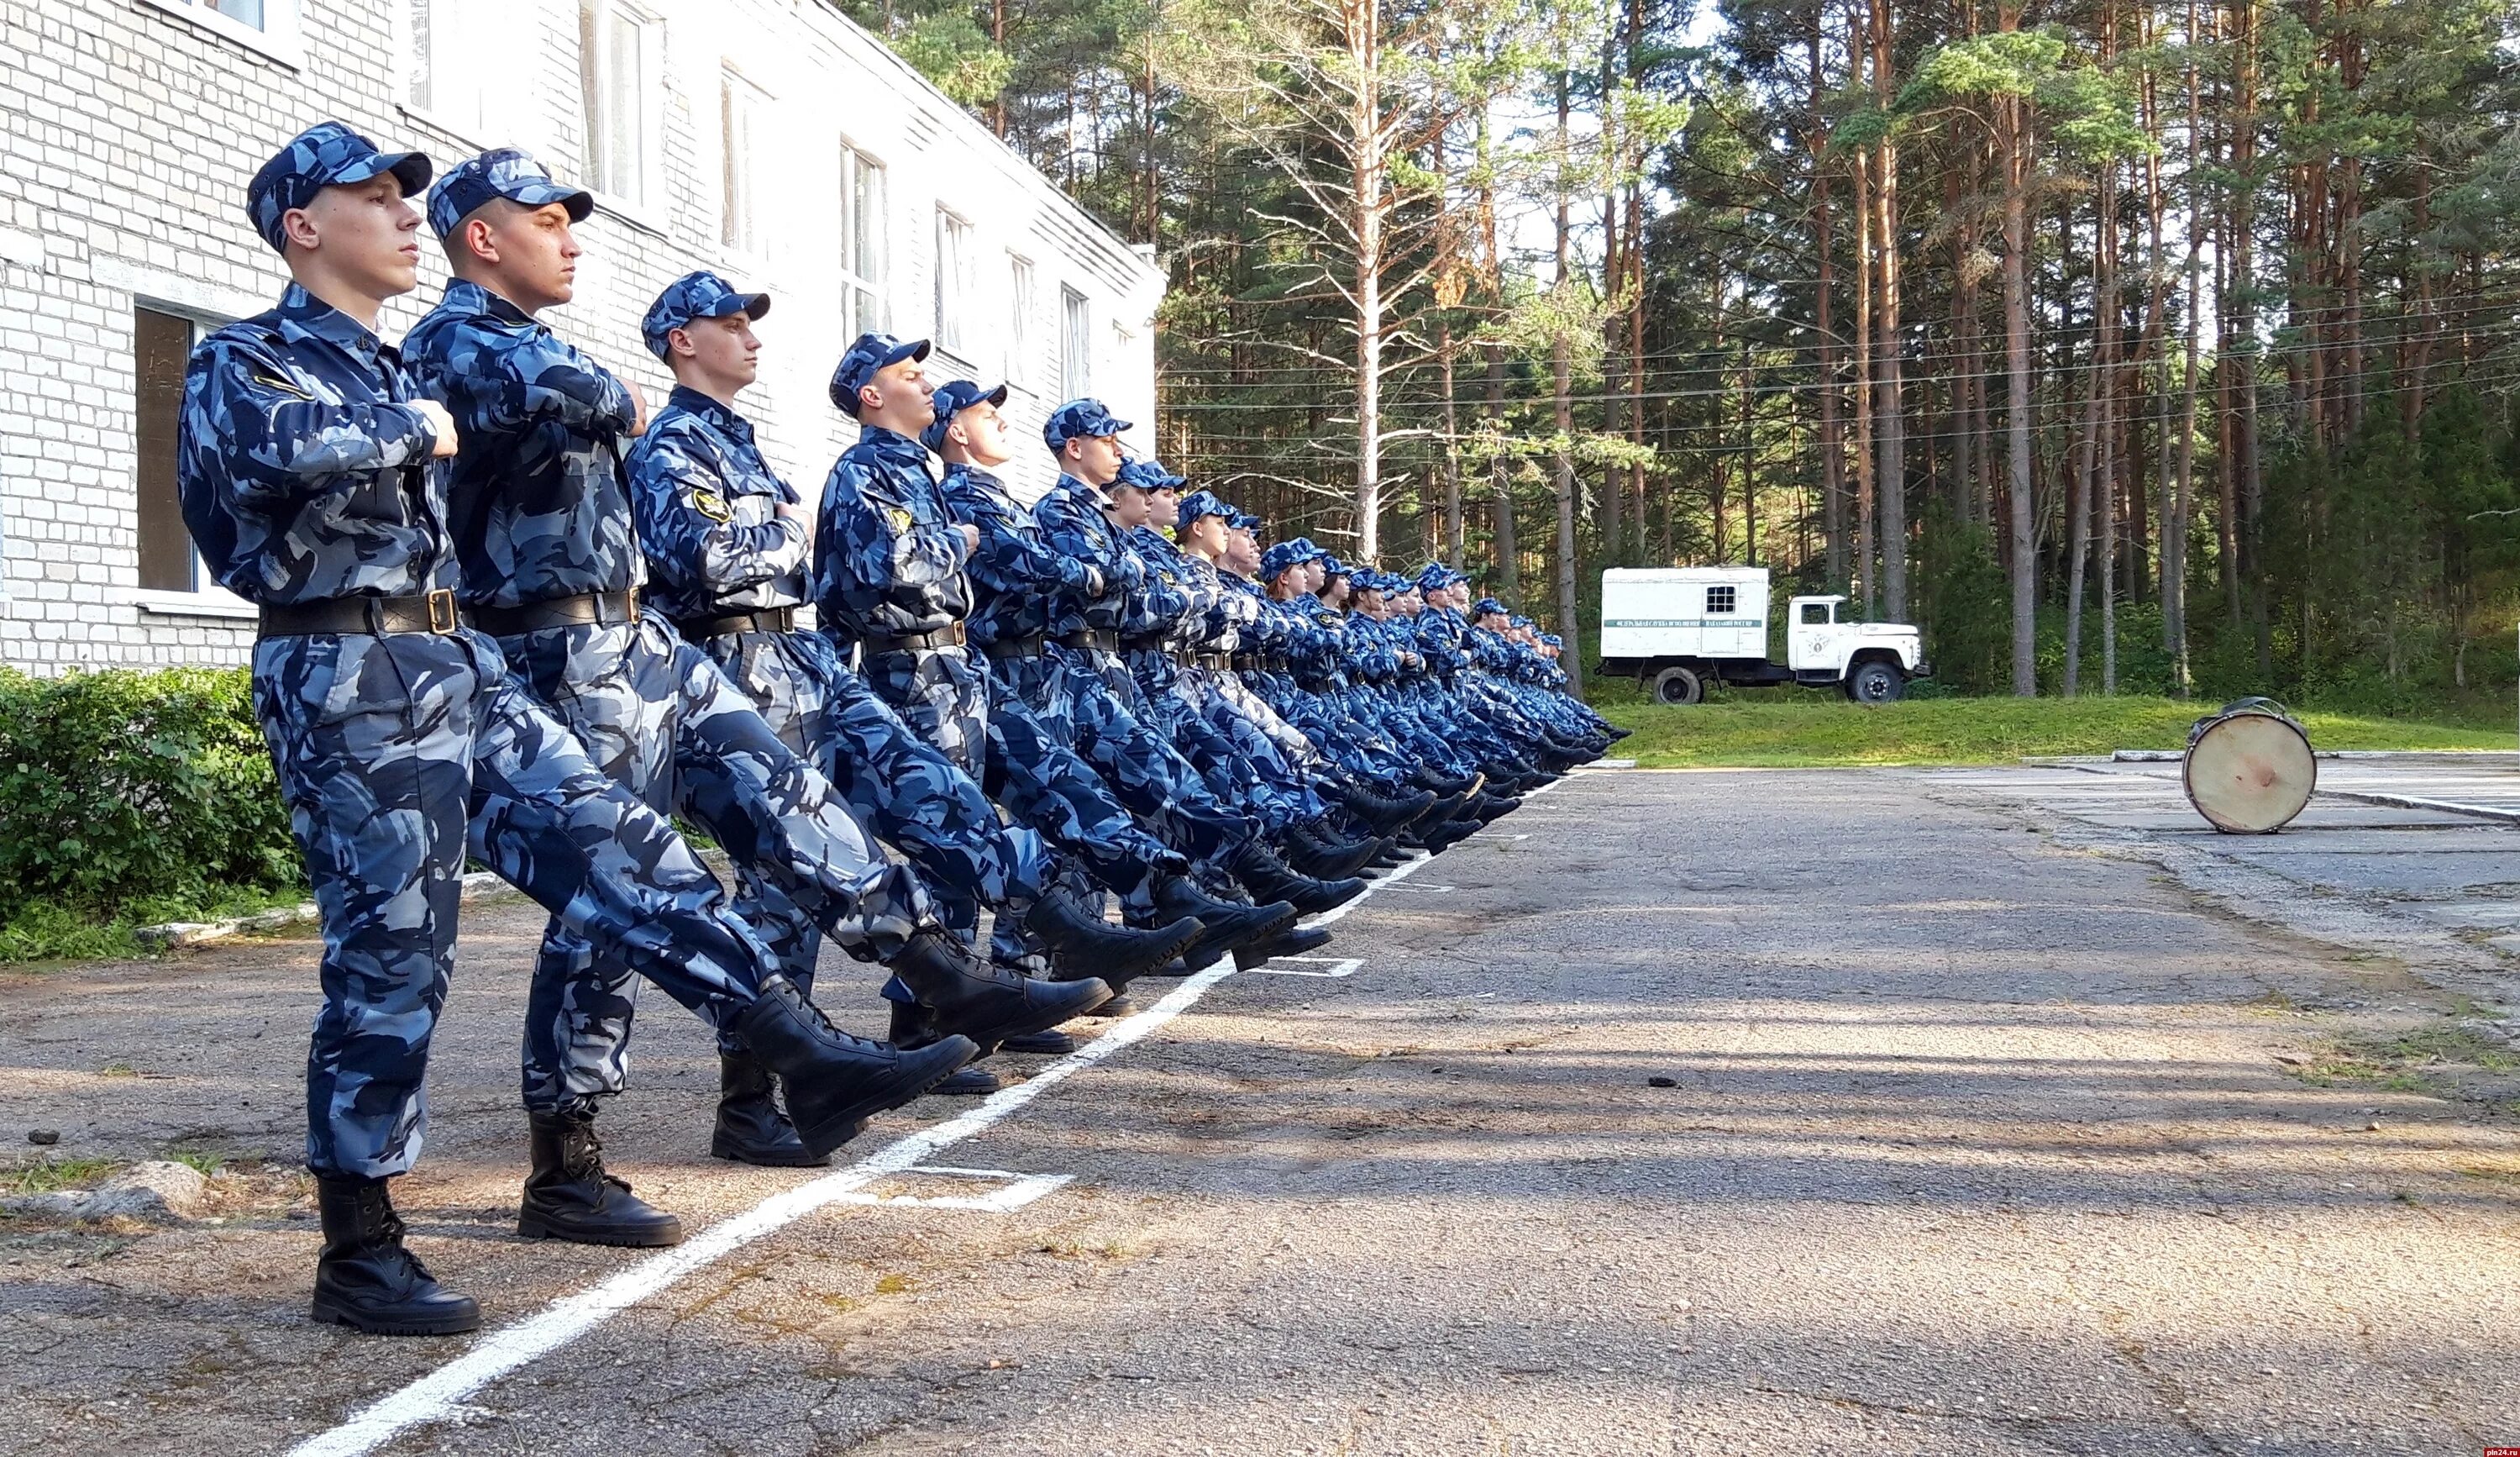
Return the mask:
[[[983,902],[1013,913],[1000,920],[1021,920],[1041,897],[1053,872],[1041,834],[1003,824],[973,776],[852,673],[829,638],[728,633],[708,638],[701,650],[743,688],[771,734],[839,789],[877,839],[910,857],[937,915],[963,940],[978,930]],[[781,968],[811,970],[822,948],[811,918],[779,928],[756,923],[756,930],[781,953]],[[794,970],[789,978],[796,978]]]

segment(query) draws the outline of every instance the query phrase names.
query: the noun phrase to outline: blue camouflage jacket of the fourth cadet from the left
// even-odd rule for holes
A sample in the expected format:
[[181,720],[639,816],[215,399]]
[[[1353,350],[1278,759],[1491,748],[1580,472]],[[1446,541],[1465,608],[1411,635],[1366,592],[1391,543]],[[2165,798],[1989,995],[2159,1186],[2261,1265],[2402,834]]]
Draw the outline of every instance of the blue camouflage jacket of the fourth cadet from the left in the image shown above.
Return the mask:
[[907,638],[970,615],[968,550],[927,446],[867,426],[832,464],[814,524],[814,610],[837,638]]

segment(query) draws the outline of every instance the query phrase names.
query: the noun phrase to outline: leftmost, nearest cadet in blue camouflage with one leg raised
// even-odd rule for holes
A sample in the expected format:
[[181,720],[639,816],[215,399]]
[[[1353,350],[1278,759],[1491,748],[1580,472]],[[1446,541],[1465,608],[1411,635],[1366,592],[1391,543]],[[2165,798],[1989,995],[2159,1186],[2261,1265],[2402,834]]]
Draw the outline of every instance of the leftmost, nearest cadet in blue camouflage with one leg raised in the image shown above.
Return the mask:
[[212,575],[260,605],[255,713],[323,913],[307,1170],[315,1318],[471,1331],[471,1298],[403,1248],[386,1180],[421,1155],[428,1041],[471,852],[575,935],[746,1036],[837,1144],[978,1051],[897,1056],[779,978],[673,827],[607,779],[456,620],[444,459],[459,434],[375,335],[418,282],[428,159],[338,121],[292,139],[247,217],[295,282],[214,330],[184,376],[176,481]]

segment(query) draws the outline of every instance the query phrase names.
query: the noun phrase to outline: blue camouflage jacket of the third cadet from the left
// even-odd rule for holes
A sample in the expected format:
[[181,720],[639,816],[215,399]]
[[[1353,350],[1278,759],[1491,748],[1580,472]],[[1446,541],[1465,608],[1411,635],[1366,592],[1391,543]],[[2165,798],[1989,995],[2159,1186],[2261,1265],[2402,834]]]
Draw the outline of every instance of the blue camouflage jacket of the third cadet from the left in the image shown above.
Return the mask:
[[796,489],[761,459],[751,421],[675,386],[622,469],[648,600],[668,618],[804,602],[804,522],[779,514]]

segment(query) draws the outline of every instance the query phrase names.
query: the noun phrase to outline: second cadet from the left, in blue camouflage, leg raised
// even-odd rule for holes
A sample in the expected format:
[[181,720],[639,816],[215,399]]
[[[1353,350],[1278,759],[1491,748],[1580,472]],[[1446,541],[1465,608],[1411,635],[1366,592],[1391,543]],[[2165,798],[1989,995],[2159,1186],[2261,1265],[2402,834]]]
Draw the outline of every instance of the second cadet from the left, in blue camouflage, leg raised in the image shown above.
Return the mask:
[[[406,343],[421,388],[464,431],[451,529],[471,620],[612,779],[726,847],[746,920],[774,925],[801,907],[852,955],[892,963],[983,1054],[1099,1003],[1109,988],[1091,981],[1048,988],[975,965],[917,875],[874,849],[751,698],[663,613],[640,610],[622,454],[645,429],[645,401],[534,318],[572,297],[582,250],[570,224],[590,207],[514,149],[454,166],[428,194],[456,277]],[[529,1235],[673,1233],[670,1215],[617,1190],[595,1157],[595,1109],[627,1076],[633,991],[617,958],[552,925],[524,1039]]]

